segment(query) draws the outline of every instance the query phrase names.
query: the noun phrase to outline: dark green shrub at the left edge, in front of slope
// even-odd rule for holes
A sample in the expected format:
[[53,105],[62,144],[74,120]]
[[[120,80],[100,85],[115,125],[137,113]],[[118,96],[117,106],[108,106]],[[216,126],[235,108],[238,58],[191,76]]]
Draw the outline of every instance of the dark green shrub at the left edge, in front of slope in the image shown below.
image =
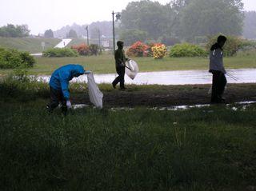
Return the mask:
[[27,52],[0,48],[1,69],[30,68],[34,66],[34,63],[34,57]]

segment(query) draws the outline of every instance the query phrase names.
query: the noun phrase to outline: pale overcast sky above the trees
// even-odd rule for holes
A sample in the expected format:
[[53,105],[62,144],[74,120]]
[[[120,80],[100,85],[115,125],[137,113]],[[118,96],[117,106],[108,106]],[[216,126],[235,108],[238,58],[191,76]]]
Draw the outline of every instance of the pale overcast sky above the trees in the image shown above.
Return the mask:
[[[245,10],[256,10],[256,0],[242,0]],[[32,34],[62,26],[110,21],[132,0],[0,0],[0,26],[27,24]],[[170,0],[158,0],[162,4]]]

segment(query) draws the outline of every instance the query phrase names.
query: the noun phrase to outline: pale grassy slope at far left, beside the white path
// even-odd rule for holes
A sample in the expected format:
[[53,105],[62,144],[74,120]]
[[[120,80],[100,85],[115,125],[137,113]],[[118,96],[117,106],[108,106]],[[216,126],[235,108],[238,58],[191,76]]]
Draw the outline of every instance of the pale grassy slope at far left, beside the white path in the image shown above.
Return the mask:
[[0,46],[3,48],[28,51],[30,53],[42,52],[41,43],[45,42],[46,49],[52,48],[61,42],[58,38],[2,38],[0,37]]

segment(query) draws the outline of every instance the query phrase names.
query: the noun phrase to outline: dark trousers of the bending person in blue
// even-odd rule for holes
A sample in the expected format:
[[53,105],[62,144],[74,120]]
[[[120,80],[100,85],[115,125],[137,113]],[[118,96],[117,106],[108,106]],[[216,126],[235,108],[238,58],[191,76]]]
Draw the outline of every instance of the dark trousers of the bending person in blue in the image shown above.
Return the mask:
[[53,111],[56,107],[58,107],[59,103],[62,104],[62,113],[66,114],[66,99],[62,94],[62,90],[55,90],[50,87],[50,103],[47,105],[49,111]]

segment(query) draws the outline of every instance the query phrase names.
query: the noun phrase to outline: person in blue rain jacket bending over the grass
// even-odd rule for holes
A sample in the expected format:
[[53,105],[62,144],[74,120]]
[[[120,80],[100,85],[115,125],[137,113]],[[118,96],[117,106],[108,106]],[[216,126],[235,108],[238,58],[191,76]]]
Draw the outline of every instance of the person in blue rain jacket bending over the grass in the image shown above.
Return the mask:
[[46,109],[52,112],[58,104],[62,104],[62,113],[66,114],[68,108],[71,107],[69,82],[73,78],[78,78],[82,74],[87,74],[81,65],[69,64],[62,66],[54,71],[50,77],[50,103],[46,105]]

